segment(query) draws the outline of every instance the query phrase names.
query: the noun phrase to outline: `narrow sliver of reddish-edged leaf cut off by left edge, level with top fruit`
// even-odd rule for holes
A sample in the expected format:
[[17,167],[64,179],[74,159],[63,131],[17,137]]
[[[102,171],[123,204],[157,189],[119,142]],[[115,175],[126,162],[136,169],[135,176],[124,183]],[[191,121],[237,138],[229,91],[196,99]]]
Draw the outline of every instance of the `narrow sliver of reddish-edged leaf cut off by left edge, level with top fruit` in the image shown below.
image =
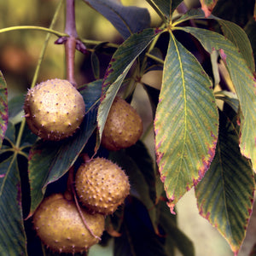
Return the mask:
[[8,125],[7,84],[0,71],[0,148]]

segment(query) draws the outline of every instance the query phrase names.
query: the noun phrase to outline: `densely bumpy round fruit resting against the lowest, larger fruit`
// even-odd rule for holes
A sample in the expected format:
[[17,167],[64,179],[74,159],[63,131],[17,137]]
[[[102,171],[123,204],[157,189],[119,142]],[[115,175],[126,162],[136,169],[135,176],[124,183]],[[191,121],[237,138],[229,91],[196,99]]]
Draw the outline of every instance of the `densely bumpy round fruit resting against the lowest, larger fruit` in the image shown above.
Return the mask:
[[129,195],[125,172],[112,161],[96,158],[79,166],[75,176],[79,201],[91,212],[113,213]]

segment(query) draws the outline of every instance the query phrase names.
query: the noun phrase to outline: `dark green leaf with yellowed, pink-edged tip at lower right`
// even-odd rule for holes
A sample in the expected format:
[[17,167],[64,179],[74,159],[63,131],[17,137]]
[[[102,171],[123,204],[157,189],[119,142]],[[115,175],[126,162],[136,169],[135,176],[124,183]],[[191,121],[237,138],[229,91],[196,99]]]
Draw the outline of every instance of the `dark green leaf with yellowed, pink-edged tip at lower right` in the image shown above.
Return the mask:
[[218,229],[237,254],[252,212],[255,183],[250,162],[240,152],[237,116],[231,108],[224,109],[219,114],[215,157],[195,195],[201,216]]

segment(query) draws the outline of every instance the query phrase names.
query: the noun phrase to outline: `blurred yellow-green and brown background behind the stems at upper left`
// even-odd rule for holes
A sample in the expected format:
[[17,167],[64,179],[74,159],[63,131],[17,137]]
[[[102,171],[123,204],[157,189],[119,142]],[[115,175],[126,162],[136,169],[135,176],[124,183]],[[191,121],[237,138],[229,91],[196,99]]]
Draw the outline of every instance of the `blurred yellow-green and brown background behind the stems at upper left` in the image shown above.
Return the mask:
[[[0,1],[0,28],[9,26],[49,27],[57,3],[57,0]],[[125,0],[123,3],[147,7],[151,13],[152,25],[157,26],[160,22],[146,1]],[[76,1],[76,21],[79,38],[121,42],[119,32],[112,24],[83,1]],[[54,29],[64,32],[65,9],[63,6]],[[45,36],[45,32],[32,30],[0,34],[0,70],[11,89],[9,98],[19,94],[20,91],[26,92],[26,89],[30,87]],[[65,78],[64,46],[54,44],[56,39],[54,35],[50,37],[38,82],[57,77]],[[105,58],[102,61],[108,62],[109,60]],[[90,56],[78,51],[76,53],[76,79],[78,84],[84,84],[91,79]]]

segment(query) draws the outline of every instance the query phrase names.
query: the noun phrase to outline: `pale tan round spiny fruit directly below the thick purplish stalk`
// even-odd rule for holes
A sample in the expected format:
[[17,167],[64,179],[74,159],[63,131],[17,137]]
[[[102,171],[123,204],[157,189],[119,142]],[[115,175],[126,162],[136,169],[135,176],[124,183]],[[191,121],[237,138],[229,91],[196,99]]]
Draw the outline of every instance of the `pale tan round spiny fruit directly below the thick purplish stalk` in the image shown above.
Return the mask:
[[26,94],[26,123],[33,133],[47,140],[70,137],[84,119],[83,96],[73,84],[51,79],[37,84]]

